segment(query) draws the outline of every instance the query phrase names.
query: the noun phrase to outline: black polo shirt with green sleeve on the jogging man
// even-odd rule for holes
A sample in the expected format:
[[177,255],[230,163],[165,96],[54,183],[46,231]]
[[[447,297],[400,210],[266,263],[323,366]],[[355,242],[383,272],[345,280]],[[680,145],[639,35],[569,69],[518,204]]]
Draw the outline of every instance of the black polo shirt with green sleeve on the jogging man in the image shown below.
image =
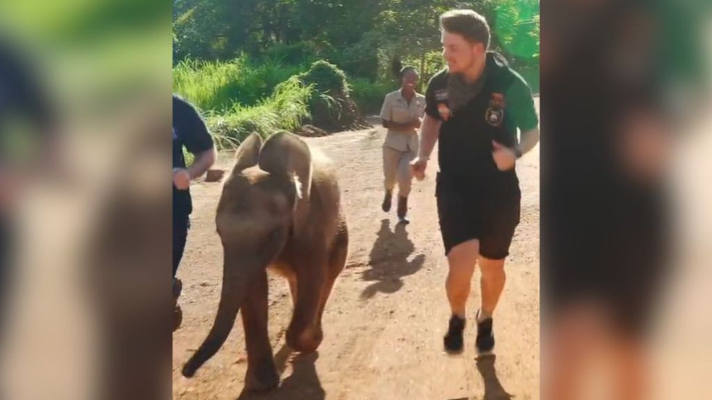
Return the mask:
[[492,158],[492,140],[508,147],[518,143],[517,130],[538,126],[534,100],[524,79],[506,60],[487,53],[483,86],[474,98],[444,120],[449,109],[449,72],[441,70],[431,78],[426,90],[425,112],[442,121],[439,137],[439,167],[442,179],[458,184],[491,183],[493,179],[517,184],[514,170],[500,172]]

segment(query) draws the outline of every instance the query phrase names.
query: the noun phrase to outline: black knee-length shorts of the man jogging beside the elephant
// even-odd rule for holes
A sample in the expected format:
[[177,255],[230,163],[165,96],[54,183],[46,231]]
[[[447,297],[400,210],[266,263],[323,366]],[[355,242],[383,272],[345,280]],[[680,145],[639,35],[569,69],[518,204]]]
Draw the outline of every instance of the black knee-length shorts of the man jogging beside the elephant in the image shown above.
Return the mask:
[[520,216],[518,181],[473,185],[439,174],[435,195],[446,256],[473,239],[478,239],[484,258],[501,260],[509,255]]

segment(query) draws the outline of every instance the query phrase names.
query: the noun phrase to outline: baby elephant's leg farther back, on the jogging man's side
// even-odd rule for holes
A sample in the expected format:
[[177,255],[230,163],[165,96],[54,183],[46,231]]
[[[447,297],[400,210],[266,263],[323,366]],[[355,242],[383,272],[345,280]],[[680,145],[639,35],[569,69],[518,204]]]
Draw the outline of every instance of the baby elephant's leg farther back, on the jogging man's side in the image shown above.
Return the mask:
[[297,302],[287,330],[287,344],[298,352],[312,352],[321,344],[316,317],[326,278],[325,262],[307,266],[297,269]]

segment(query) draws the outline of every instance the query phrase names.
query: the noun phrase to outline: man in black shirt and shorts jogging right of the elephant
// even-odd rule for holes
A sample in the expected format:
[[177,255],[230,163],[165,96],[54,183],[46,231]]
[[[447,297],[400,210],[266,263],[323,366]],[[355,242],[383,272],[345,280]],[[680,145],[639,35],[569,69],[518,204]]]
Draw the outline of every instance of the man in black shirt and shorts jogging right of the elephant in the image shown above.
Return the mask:
[[502,56],[488,51],[490,31],[483,16],[471,10],[449,11],[440,17],[440,25],[448,66],[428,84],[420,152],[412,168],[418,179],[424,178],[439,140],[436,196],[452,312],[444,347],[450,353],[463,349],[466,300],[479,261],[482,304],[476,348],[483,353],[494,347],[492,315],[519,223],[515,162],[537,144],[538,117],[523,78]]

